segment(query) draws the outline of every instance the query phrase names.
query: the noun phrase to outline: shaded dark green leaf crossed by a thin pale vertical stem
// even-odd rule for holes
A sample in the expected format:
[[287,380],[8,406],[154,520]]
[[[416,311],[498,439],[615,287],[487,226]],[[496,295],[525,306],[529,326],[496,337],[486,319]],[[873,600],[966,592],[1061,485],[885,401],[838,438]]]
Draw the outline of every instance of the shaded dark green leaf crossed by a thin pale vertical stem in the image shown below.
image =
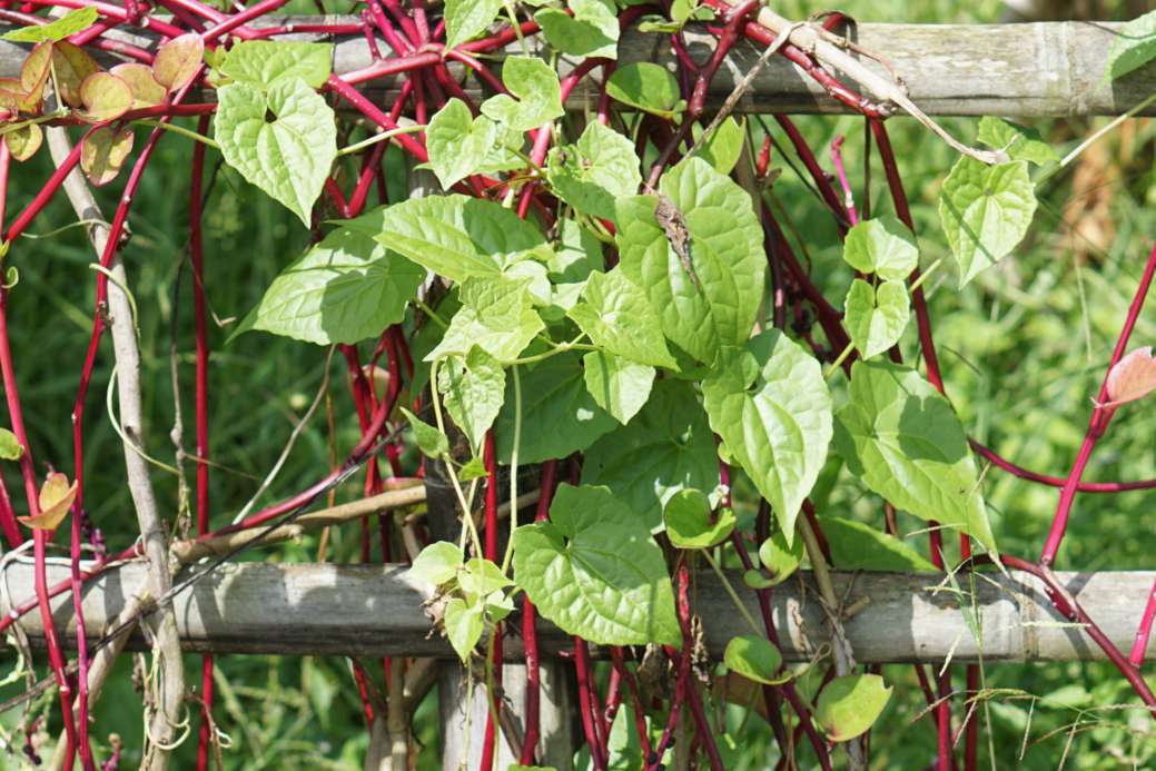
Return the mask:
[[[521,445],[518,462],[541,464],[585,450],[617,421],[586,390],[578,353],[551,356],[520,370]],[[514,418],[513,383],[498,413],[498,460],[510,462]]]

